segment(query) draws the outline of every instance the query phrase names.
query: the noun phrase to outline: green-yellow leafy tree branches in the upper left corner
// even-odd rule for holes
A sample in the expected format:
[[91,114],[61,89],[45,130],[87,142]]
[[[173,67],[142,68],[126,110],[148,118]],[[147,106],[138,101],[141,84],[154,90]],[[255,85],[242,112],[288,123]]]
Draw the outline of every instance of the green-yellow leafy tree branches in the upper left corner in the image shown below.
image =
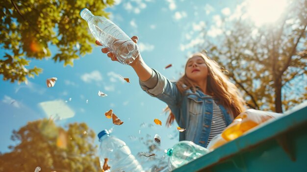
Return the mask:
[[36,66],[26,69],[31,59],[51,56],[51,46],[56,46],[54,62],[73,66],[73,61],[92,51],[95,39],[79,16],[86,7],[95,15],[104,12],[114,0],[1,0],[0,2],[0,74],[3,80],[26,82],[42,72]]

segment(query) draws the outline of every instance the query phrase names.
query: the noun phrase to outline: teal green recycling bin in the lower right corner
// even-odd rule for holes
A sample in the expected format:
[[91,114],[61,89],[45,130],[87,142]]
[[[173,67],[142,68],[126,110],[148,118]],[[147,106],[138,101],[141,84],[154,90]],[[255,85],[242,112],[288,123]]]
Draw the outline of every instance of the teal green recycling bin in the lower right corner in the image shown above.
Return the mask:
[[174,172],[307,172],[307,101]]

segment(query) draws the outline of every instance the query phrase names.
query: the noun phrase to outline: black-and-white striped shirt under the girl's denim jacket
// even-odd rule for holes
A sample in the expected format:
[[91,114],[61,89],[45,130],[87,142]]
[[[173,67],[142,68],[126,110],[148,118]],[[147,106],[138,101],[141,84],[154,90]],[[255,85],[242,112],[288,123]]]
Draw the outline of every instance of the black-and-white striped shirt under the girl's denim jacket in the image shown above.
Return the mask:
[[227,127],[224,115],[219,107],[214,101],[213,101],[213,115],[212,115],[212,122],[211,122],[211,131],[209,135],[209,139],[207,142],[206,147],[210,143],[210,141],[213,139],[214,136],[221,134],[225,128]]

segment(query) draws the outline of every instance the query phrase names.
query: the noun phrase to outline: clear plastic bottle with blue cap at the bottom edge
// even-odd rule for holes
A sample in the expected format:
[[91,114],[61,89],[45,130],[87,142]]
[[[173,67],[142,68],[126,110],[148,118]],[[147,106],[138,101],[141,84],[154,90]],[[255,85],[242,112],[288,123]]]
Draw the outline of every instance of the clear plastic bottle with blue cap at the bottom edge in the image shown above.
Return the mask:
[[108,158],[110,172],[144,172],[124,141],[115,136],[110,136],[107,130],[101,131],[98,137],[101,142],[99,147],[101,168],[103,167],[104,158]]

